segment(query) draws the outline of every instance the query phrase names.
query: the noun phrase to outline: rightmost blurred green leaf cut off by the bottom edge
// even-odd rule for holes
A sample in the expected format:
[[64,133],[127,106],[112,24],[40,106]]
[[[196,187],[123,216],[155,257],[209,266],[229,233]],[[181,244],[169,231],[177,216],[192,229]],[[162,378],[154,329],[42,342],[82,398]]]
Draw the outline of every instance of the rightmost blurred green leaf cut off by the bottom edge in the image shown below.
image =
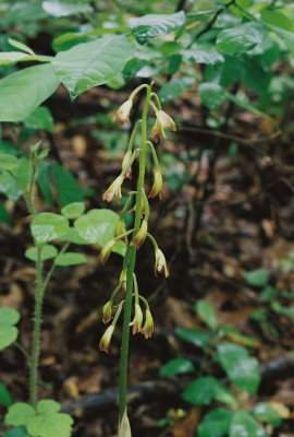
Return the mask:
[[256,420],[246,411],[240,410],[234,413],[229,437],[268,437],[267,433]]

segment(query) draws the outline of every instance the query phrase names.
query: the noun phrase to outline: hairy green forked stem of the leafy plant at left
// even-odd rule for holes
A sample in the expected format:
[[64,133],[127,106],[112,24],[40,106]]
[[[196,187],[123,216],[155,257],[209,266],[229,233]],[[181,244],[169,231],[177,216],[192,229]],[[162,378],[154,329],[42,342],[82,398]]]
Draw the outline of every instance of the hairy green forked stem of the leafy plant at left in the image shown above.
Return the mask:
[[[68,249],[70,243],[66,243],[58,255],[62,255]],[[53,274],[57,267],[56,260],[47,273],[45,280],[42,280],[42,267],[41,261],[42,246],[37,246],[37,261],[36,261],[36,288],[35,288],[35,311],[34,311],[34,332],[33,332],[33,343],[32,352],[29,357],[29,403],[32,406],[36,406],[37,403],[37,385],[38,385],[38,365],[39,365],[39,354],[40,354],[40,327],[41,327],[41,314],[42,314],[42,302],[48,283]]]

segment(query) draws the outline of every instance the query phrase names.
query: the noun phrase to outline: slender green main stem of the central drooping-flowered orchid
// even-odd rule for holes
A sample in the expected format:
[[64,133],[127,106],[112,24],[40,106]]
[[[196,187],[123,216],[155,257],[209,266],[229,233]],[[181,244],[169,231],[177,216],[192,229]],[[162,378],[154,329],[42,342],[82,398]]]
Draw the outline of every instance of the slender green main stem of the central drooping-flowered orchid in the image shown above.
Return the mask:
[[[142,189],[144,188],[145,167],[146,167],[146,139],[147,139],[147,115],[151,98],[150,85],[142,85],[140,88],[146,87],[146,101],[142,115],[142,130],[140,130],[140,152],[139,152],[139,174],[136,189],[136,213],[135,226],[133,236],[135,236],[140,226],[142,217]],[[136,90],[138,91],[138,88]],[[133,94],[133,93],[132,93]],[[126,271],[126,292],[123,310],[123,331],[122,331],[122,346],[121,346],[121,361],[120,361],[120,387],[119,387],[119,410],[120,422],[126,409],[126,386],[127,386],[127,363],[128,363],[128,343],[130,343],[130,323],[132,316],[132,300],[133,300],[133,273],[136,262],[136,246],[130,247],[127,252],[127,271]]]

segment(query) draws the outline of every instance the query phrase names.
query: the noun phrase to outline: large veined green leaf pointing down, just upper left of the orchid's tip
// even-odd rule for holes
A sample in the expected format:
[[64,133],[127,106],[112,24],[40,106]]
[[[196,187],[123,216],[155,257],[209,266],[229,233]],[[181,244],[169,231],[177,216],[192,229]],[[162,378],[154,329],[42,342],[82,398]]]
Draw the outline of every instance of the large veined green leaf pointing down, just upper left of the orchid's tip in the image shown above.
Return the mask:
[[135,46],[123,35],[106,35],[60,51],[52,61],[57,76],[74,99],[120,73],[134,56]]

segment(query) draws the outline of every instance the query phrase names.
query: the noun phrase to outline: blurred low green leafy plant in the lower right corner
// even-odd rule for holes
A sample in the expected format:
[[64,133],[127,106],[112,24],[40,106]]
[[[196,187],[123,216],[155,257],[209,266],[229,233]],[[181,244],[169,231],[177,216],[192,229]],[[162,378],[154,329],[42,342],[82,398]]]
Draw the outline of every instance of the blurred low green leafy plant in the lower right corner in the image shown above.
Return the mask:
[[[225,405],[217,406],[204,415],[197,427],[198,437],[236,437],[241,434],[266,437],[268,434],[259,422],[278,427],[282,423],[279,413],[267,402],[254,404],[249,413],[235,395],[237,391],[245,391],[252,397],[257,393],[260,367],[258,361],[248,353],[248,347],[254,346],[255,341],[233,328],[219,326],[215,308],[206,300],[198,300],[195,310],[209,328],[209,332],[176,328],[175,333],[204,351],[200,367],[197,368],[187,358],[174,358],[161,367],[160,376],[196,373],[197,378],[182,392],[182,399],[193,405],[211,405],[212,402]],[[226,339],[233,342],[225,341]],[[233,391],[226,381],[206,375],[212,363],[217,363],[225,373]],[[160,426],[172,424],[159,423]]]

